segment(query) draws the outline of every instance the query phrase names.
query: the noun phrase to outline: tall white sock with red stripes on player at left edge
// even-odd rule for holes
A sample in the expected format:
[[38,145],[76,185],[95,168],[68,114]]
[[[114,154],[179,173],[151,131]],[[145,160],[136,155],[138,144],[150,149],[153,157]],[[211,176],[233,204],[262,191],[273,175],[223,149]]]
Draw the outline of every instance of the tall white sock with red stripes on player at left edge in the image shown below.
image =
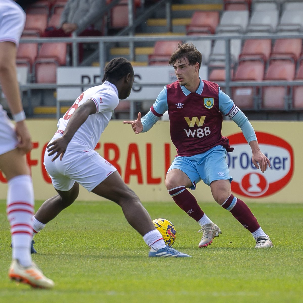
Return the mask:
[[30,253],[32,241],[32,215],[34,191],[32,178],[19,175],[8,181],[7,218],[11,226],[12,258],[23,266],[32,265]]

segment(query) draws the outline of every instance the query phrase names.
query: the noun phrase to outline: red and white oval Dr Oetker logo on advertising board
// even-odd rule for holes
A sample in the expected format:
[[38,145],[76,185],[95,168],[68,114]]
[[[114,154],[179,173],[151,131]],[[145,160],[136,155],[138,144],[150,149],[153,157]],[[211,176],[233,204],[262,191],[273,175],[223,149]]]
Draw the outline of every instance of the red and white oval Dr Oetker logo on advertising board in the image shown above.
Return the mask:
[[233,177],[231,190],[251,198],[266,197],[281,190],[290,181],[294,169],[294,152],[288,142],[264,132],[256,135],[261,151],[271,163],[264,174],[252,163],[251,148],[242,133],[228,136],[235,150],[226,158]]

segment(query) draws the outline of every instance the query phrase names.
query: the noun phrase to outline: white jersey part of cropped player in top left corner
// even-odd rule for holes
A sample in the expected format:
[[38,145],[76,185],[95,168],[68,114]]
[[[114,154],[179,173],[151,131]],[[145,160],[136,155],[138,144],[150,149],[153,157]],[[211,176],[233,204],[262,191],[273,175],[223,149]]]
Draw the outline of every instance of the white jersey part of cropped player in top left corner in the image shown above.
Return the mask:
[[0,42],[11,41],[17,46],[25,25],[25,12],[12,0],[0,1]]

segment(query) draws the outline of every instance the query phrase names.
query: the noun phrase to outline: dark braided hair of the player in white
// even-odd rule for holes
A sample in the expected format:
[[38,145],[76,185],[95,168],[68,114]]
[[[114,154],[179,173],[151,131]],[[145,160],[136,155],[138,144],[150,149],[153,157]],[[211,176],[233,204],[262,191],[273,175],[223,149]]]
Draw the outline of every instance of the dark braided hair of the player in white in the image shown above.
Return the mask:
[[107,79],[120,80],[128,74],[134,75],[132,64],[125,58],[114,58],[104,68],[102,83]]

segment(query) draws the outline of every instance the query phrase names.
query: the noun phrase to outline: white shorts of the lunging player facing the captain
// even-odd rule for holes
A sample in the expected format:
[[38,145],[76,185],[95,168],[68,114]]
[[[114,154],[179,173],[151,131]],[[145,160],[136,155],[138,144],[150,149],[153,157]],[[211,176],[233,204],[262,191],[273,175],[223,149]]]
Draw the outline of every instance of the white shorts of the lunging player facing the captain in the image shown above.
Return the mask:
[[88,152],[67,150],[62,161],[59,157],[52,162],[52,158],[54,155],[48,156],[46,150],[45,168],[52,179],[53,186],[60,191],[69,191],[75,182],[92,191],[117,170],[95,150]]

